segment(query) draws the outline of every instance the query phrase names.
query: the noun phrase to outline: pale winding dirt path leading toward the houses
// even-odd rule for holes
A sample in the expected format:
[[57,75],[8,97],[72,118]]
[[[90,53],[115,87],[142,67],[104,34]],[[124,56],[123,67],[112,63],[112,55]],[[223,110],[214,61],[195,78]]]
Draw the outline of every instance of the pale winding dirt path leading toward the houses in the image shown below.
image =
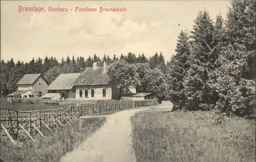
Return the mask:
[[108,115],[101,129],[84,141],[78,149],[63,156],[60,161],[136,161],[130,117],[141,110],[146,109]]

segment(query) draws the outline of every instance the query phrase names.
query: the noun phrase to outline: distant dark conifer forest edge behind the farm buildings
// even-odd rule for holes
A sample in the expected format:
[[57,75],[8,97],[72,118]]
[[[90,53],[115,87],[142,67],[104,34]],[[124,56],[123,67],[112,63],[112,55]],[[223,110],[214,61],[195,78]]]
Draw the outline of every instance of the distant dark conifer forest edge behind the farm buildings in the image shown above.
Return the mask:
[[144,64],[150,63],[152,67],[157,66],[158,62],[164,64],[164,58],[162,53],[158,54],[157,52],[153,57],[147,59],[145,55],[136,56],[134,53],[129,52],[127,55],[121,54],[120,57],[116,55],[113,58],[108,55],[104,55],[102,58],[94,54],[93,57],[89,56],[84,59],[80,56],[75,58],[74,56],[70,58],[67,56],[66,59],[63,57],[61,61],[58,61],[55,57],[45,57],[44,59],[32,59],[28,63],[17,61],[14,63],[14,60],[4,60],[1,61],[1,95],[5,97],[6,95],[17,90],[18,81],[25,74],[34,74],[41,73],[49,83],[52,83],[53,80],[61,73],[76,73],[80,72],[80,69],[85,69],[87,67],[93,67],[93,63],[97,62],[99,67],[103,66],[103,62],[106,62],[108,65],[112,64],[114,61],[124,61],[129,64]]

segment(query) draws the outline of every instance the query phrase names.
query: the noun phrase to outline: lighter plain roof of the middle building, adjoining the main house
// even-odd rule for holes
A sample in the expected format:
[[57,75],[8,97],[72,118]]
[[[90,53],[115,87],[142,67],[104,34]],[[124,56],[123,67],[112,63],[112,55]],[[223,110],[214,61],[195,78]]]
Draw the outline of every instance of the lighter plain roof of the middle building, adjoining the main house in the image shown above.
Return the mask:
[[80,74],[81,73],[59,74],[59,76],[48,86],[47,90],[70,90],[73,88],[75,80]]

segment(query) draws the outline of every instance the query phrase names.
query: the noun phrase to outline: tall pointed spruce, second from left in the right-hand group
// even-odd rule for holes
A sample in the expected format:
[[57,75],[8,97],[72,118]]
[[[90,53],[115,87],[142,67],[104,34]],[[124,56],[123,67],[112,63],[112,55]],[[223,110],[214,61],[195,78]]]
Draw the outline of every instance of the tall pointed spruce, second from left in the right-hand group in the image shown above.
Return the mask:
[[196,20],[191,38],[193,43],[188,59],[189,70],[184,77],[185,109],[210,110],[216,103],[209,84],[211,79],[212,55],[215,55],[214,24],[208,11],[200,11]]

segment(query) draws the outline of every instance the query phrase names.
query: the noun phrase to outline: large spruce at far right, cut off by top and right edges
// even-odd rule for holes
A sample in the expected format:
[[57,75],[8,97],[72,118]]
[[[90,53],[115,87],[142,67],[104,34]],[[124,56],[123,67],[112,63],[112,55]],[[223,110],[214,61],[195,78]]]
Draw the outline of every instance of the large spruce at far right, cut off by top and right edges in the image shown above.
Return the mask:
[[216,108],[255,116],[255,1],[232,1],[225,26],[228,42],[217,62]]

